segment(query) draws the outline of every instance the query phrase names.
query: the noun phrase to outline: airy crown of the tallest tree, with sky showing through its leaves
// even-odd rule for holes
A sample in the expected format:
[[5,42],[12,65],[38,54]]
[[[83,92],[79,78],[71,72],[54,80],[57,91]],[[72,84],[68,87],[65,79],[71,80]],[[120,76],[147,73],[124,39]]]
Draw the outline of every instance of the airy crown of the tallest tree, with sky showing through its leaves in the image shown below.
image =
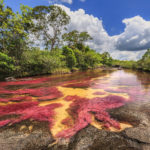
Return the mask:
[[53,50],[60,43],[60,36],[70,17],[58,6],[37,6],[33,8],[35,28],[32,30],[41,38],[46,49]]

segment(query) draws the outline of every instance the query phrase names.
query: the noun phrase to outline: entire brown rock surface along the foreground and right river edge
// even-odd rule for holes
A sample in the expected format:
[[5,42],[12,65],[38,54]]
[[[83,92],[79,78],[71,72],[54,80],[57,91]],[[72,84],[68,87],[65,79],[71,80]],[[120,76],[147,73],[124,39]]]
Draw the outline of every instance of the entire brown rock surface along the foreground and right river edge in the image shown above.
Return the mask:
[[0,150],[150,150],[149,102],[133,102],[109,114],[133,128],[110,132],[89,125],[70,140],[56,142],[47,123],[25,121],[0,129]]

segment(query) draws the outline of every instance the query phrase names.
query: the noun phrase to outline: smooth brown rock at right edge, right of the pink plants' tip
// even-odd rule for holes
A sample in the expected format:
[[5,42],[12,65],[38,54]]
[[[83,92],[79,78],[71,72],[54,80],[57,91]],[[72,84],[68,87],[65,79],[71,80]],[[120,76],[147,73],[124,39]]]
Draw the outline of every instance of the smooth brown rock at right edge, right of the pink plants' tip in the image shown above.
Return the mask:
[[150,127],[150,102],[137,101],[109,110],[112,118],[133,126]]

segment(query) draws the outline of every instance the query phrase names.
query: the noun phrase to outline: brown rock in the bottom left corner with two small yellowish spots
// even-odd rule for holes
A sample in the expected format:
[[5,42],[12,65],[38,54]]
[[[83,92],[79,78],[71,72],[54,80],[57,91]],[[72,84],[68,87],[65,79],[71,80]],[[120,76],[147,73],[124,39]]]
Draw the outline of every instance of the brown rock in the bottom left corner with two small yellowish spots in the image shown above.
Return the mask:
[[48,150],[53,142],[47,123],[23,121],[0,129],[0,150]]

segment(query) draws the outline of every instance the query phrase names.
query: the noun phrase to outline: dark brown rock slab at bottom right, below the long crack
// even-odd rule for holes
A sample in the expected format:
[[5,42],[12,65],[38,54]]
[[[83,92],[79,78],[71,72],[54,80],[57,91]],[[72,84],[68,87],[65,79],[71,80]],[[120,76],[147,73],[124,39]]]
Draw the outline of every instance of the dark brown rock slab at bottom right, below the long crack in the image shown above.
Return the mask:
[[150,144],[88,126],[72,138],[69,150],[150,150]]

